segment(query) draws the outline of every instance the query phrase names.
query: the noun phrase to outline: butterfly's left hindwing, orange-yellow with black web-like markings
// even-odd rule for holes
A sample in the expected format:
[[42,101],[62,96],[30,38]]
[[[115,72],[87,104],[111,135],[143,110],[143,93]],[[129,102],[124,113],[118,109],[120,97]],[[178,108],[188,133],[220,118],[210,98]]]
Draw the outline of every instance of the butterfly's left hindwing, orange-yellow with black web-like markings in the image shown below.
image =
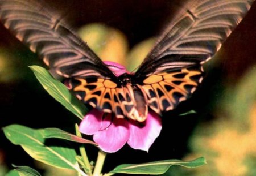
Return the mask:
[[117,118],[133,118],[135,96],[131,85],[119,85],[109,79],[76,78],[69,81],[69,88],[77,98],[105,113],[114,113]]

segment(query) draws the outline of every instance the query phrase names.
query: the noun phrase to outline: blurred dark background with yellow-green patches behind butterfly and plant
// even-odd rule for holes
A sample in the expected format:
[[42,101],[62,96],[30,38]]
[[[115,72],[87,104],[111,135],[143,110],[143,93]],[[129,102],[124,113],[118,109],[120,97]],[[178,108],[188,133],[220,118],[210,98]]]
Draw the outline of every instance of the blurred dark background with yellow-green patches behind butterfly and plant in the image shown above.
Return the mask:
[[[179,1],[46,1],[104,60],[132,71],[175,15]],[[163,130],[148,153],[125,147],[109,154],[104,170],[121,163],[204,156],[198,169],[175,166],[166,175],[256,175],[256,3],[218,54],[205,64],[203,84],[194,96],[163,115]],[[37,55],[0,25],[0,127],[58,127],[73,132],[79,119],[53,100],[35,79]],[[189,110],[196,114],[180,116]],[[96,151],[89,147],[92,160]],[[28,165],[43,175],[52,168],[32,160],[0,131],[0,175],[11,164]],[[72,172],[58,172],[73,175]]]

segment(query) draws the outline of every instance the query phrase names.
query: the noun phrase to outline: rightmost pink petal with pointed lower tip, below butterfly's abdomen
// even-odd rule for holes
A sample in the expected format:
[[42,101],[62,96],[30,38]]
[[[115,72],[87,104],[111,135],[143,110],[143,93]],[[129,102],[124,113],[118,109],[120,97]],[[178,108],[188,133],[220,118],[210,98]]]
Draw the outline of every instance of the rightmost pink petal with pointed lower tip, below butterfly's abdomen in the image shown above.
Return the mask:
[[130,147],[148,152],[162,130],[162,121],[158,114],[149,111],[143,127],[138,122],[130,122],[129,128],[130,138],[127,143]]

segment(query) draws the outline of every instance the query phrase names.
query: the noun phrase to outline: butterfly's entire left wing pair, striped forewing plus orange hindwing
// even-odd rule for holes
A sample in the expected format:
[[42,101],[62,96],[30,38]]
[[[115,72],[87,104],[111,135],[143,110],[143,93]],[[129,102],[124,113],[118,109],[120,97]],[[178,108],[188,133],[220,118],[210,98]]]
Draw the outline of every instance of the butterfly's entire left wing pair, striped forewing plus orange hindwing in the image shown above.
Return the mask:
[[80,100],[123,117],[121,105],[132,104],[129,91],[57,16],[42,2],[0,0],[3,25],[38,53],[51,71],[68,78],[69,88]]

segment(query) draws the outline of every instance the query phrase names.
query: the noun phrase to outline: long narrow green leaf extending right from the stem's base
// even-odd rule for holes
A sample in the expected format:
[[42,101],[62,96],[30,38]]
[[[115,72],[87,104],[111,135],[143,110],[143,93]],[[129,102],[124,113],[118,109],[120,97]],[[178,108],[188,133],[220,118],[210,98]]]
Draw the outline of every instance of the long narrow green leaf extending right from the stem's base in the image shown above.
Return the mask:
[[192,161],[163,160],[144,164],[122,164],[110,171],[110,173],[159,175],[165,173],[173,165],[196,168],[204,164],[206,164],[204,157]]

